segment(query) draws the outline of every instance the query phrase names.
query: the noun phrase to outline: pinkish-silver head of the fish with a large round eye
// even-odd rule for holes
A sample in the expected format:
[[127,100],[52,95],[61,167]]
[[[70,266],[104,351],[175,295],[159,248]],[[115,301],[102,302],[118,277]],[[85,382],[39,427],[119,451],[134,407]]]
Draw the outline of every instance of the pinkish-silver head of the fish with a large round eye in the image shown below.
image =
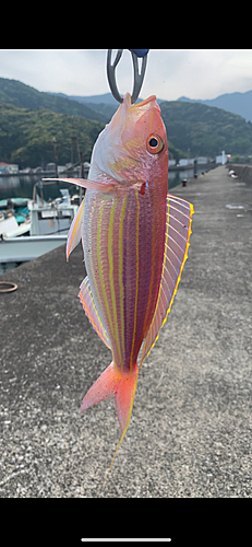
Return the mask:
[[95,143],[89,177],[107,176],[127,186],[160,176],[167,182],[167,136],[156,96],[132,105],[127,93]]

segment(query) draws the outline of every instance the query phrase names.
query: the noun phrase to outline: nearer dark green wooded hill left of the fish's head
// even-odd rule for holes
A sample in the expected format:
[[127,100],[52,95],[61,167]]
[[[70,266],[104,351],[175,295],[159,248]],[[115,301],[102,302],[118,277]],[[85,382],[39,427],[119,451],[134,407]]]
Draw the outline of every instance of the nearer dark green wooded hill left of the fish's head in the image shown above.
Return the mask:
[[31,110],[0,102],[0,159],[20,168],[53,161],[53,139],[59,164],[71,161],[71,136],[77,136],[83,161],[91,160],[93,146],[104,124],[48,109]]

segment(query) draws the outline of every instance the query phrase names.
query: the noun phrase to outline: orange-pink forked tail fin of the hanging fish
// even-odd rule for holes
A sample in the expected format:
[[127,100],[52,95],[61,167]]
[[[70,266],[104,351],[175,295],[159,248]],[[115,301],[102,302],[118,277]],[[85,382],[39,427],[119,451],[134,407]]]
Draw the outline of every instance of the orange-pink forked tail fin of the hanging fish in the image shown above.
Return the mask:
[[121,372],[112,361],[88,389],[82,401],[81,411],[84,411],[86,408],[89,408],[96,403],[115,396],[121,439],[117,445],[110,467],[106,473],[105,480],[112,467],[118,449],[129,428],[137,385],[137,376],[139,366],[136,363],[132,366],[131,371]]

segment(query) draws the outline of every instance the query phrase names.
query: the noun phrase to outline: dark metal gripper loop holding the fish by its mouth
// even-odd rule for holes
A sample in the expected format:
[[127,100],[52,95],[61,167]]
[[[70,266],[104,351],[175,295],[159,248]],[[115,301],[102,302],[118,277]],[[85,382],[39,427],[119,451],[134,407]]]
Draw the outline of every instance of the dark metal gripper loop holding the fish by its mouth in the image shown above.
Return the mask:
[[[123,97],[120,95],[117,82],[116,82],[116,67],[122,56],[123,49],[118,49],[116,59],[113,63],[111,65],[111,56],[112,56],[112,49],[108,49],[108,56],[107,56],[107,75],[108,75],[108,82],[109,86],[111,90],[112,95],[119,102],[122,103]],[[135,101],[139,97],[143,80],[144,80],[144,74],[146,70],[146,65],[147,65],[147,55],[145,57],[142,57],[142,67],[141,71],[139,71],[139,58],[134,51],[131,51],[132,55],[132,60],[133,60],[133,68],[134,68],[134,86],[133,86],[133,92],[131,95],[131,104],[134,104]]]

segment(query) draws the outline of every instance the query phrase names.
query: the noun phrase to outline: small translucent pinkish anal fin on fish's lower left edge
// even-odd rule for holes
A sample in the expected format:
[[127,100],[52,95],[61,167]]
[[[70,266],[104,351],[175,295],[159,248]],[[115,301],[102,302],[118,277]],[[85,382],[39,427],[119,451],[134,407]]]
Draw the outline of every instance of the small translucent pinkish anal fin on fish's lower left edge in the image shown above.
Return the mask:
[[97,335],[99,335],[104,344],[106,344],[106,346],[109,349],[111,349],[108,335],[103,326],[101,319],[95,307],[94,299],[91,292],[91,284],[87,276],[85,277],[84,281],[80,287],[79,296],[85,310],[85,314],[87,315],[92,326],[96,330]]

